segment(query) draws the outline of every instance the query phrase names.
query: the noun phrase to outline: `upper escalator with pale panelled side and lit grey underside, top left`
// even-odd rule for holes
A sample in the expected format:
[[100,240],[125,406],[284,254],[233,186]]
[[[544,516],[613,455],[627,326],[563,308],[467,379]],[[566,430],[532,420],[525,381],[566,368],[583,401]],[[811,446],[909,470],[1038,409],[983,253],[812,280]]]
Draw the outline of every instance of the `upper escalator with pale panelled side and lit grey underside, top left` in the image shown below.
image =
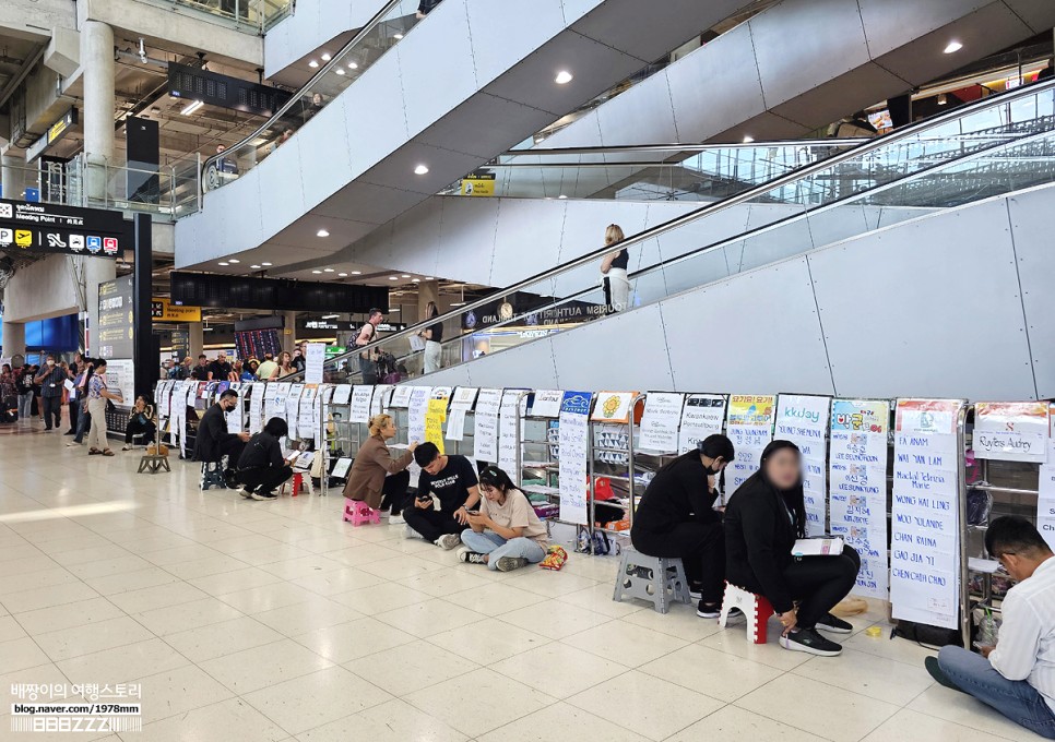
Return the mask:
[[176,266],[332,254],[748,2],[444,0],[417,21],[392,0],[205,163]]

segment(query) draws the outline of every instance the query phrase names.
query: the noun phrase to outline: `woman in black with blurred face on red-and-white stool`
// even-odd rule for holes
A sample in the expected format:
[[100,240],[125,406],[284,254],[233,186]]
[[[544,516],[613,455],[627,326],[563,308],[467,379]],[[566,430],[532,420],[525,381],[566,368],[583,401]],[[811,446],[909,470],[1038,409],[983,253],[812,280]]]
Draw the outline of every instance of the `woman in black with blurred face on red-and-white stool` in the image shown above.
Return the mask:
[[838,556],[792,556],[795,539],[806,535],[801,457],[791,441],[773,441],[762,452],[761,468],[730,499],[726,578],[769,599],[784,626],[782,647],[834,657],[842,646],[817,630],[853,630],[830,611],[853,588],[861,558],[849,546]]

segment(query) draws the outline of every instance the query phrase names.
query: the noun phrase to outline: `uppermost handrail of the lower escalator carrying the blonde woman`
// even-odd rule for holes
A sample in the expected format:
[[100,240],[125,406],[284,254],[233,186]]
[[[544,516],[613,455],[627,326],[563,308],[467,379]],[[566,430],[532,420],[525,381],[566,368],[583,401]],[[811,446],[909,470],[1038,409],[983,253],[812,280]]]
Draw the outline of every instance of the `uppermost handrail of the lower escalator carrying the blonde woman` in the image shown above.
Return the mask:
[[[802,180],[803,178],[808,177],[815,172],[820,172],[822,170],[827,170],[831,168],[834,165],[839,165],[840,163],[855,159],[856,157],[860,157],[862,154],[866,154],[868,152],[872,152],[873,149],[886,147],[891,143],[898,142],[899,140],[908,139],[910,136],[918,134],[922,131],[927,131],[928,129],[935,129],[944,123],[947,123],[948,121],[953,121],[956,119],[963,118],[969,113],[973,113],[980,110],[985,110],[986,108],[991,108],[991,107],[1007,105],[1019,98],[1031,97],[1036,95],[1038,93],[1042,93],[1053,88],[1055,88],[1055,79],[1047,80],[1043,83],[1033,83],[1032,85],[1023,85],[1021,87],[1016,87],[1011,91],[1006,91],[1004,93],[997,93],[995,95],[987,96],[975,104],[960,106],[945,113],[940,113],[934,118],[926,119],[924,121],[920,121],[918,123],[910,124],[904,129],[890,132],[889,134],[873,137],[870,140],[867,140],[863,144],[858,144],[855,147],[844,149],[843,152],[832,155],[831,157],[818,160],[817,163],[813,163],[810,165],[798,168],[796,170],[792,170],[791,172],[786,172],[782,176],[778,176],[772,180],[766,181],[764,183],[761,183],[759,185],[755,185],[754,188],[750,188],[736,195],[730,196],[728,199],[724,199],[722,201],[718,201],[712,204],[707,204],[706,206],[701,206],[700,208],[696,208],[691,212],[687,212],[686,214],[681,214],[680,216],[676,216],[673,219],[668,219],[667,222],[664,222],[654,227],[645,229],[644,231],[638,232],[637,235],[632,235],[626,238],[625,240],[623,240],[621,242],[619,242],[619,247],[620,249],[626,249],[636,244],[640,244],[642,242],[647,242],[648,240],[660,237],[661,235],[665,235],[666,232],[672,231],[673,229],[676,229],[678,227],[681,227],[690,222],[695,222],[701,216],[706,216],[712,213],[718,213],[726,208],[730,208],[732,206],[739,205],[742,203],[750,201],[751,199],[756,199],[760,195],[764,195],[770,191],[773,191],[782,185],[795,182],[796,180]],[[489,304],[500,297],[515,294],[517,291],[530,288],[541,282],[547,280],[549,278],[555,278],[570,270],[580,267],[582,265],[586,265],[589,263],[593,263],[598,259],[603,258],[604,255],[608,254],[609,252],[612,252],[612,246],[605,246],[605,247],[598,248],[597,250],[594,250],[593,252],[590,252],[585,255],[576,258],[566,263],[561,263],[560,265],[555,265],[552,268],[547,268],[546,271],[536,273],[535,275],[530,276],[528,278],[523,278],[511,286],[507,286],[506,288],[499,289],[497,291],[491,291],[486,297],[467,302],[466,304],[459,307],[457,310],[447,312],[446,314],[440,314],[429,320],[423,320],[414,325],[411,325],[406,330],[401,330],[400,332],[393,333],[391,335],[387,335],[386,337],[374,340],[372,343],[369,343],[367,345],[356,346],[353,350],[349,350],[346,354],[334,356],[333,358],[329,359],[328,362],[340,363],[341,361],[352,359],[364,351],[369,352],[374,348],[380,346],[382,343],[387,344],[391,340],[394,340],[401,337],[411,337],[413,335],[417,335],[419,332],[425,330],[426,326],[443,323],[443,322],[447,322],[448,320],[459,319],[463,314],[465,314],[465,312]],[[296,374],[295,376],[291,375],[288,380],[293,381],[295,379],[303,378],[303,375],[304,375],[304,372],[301,371],[301,372],[298,372],[298,374]]]

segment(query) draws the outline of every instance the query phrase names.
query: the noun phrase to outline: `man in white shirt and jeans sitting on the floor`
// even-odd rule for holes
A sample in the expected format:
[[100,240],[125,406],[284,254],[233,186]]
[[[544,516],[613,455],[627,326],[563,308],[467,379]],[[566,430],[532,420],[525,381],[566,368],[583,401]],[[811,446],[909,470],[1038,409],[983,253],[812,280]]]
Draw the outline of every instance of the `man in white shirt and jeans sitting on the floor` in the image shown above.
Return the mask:
[[926,668],[943,685],[1055,740],[1055,559],[1033,524],[1018,516],[993,520],[985,549],[1018,583],[1004,598],[997,646],[980,655],[941,647]]

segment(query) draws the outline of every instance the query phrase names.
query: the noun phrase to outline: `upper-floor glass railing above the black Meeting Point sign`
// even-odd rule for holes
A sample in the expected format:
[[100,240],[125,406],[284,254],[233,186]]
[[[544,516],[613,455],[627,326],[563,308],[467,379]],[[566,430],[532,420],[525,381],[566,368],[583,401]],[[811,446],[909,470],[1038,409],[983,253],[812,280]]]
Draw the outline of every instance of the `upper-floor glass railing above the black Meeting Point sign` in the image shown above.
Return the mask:
[[21,201],[152,214],[175,222],[201,205],[198,155],[157,169],[90,164],[84,156],[43,167],[4,166],[4,191]]

